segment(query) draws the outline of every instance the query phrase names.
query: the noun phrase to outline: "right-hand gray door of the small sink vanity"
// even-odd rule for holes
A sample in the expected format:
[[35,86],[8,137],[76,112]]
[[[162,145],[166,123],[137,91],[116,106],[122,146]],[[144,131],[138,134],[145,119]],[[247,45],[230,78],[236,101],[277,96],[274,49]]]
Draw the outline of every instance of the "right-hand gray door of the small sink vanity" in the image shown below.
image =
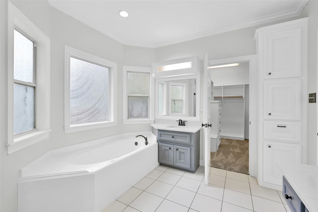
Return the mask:
[[190,147],[174,146],[174,166],[184,169],[190,169],[190,154]]

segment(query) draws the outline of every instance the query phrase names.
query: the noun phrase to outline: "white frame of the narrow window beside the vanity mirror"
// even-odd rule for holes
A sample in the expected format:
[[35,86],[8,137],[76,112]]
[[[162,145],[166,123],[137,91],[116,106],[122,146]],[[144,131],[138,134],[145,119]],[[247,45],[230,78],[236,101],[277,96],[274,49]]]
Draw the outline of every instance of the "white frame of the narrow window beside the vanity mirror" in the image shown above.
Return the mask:
[[[128,94],[127,94],[127,72],[149,73],[149,117],[148,118],[128,118]],[[154,123],[154,79],[152,78],[151,67],[123,66],[123,123],[124,124],[146,124]]]

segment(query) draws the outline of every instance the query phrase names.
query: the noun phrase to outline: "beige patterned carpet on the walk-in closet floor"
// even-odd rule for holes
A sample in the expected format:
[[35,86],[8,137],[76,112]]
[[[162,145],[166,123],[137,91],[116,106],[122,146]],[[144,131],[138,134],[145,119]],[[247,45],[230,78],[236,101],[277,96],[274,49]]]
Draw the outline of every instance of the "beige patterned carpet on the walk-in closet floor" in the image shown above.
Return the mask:
[[211,167],[248,174],[248,140],[222,138],[218,151],[211,152]]

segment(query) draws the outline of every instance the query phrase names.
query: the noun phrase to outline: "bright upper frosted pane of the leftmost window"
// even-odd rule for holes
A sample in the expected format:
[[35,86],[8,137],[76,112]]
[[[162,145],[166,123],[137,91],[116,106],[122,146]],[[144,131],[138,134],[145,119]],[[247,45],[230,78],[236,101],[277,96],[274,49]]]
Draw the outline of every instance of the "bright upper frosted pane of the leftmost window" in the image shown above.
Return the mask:
[[14,30],[14,79],[33,83],[34,43]]

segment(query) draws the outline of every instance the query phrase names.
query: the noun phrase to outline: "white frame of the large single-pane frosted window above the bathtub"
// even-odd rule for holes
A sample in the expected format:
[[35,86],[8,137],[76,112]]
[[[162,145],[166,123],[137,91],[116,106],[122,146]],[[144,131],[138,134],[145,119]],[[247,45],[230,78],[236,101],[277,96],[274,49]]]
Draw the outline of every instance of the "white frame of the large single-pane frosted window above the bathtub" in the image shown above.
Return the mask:
[[[103,122],[92,122],[84,124],[74,124],[70,123],[70,58],[74,57],[79,60],[83,60],[89,63],[101,65],[107,67],[109,70],[109,120]],[[70,46],[65,46],[65,132],[74,133],[85,130],[98,129],[103,127],[115,126],[117,124],[117,110],[115,105],[117,105],[117,89],[115,88],[117,82],[117,63],[106,60],[104,58],[83,52],[81,50],[72,48]]]

